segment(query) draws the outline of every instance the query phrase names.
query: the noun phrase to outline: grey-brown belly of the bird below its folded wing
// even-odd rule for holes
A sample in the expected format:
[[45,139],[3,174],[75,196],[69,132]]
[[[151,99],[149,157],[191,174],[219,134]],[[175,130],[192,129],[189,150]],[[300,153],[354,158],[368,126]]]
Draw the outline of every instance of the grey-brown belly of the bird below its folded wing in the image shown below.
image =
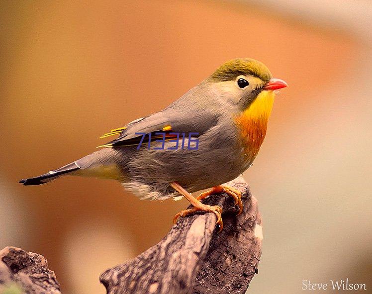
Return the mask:
[[176,181],[192,193],[235,179],[257,155],[247,153],[234,137],[199,146],[198,150],[138,151],[129,163],[124,187],[144,198],[166,199],[177,196],[169,187]]

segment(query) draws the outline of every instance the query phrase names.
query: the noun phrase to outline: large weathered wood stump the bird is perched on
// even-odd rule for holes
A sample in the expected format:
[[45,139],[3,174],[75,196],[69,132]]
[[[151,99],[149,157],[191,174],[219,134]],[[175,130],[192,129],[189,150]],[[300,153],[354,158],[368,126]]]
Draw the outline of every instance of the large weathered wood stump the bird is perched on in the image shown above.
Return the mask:
[[100,275],[107,294],[245,293],[261,256],[261,216],[242,177],[226,185],[242,192],[241,215],[228,195],[208,197],[223,209],[221,233],[213,213],[181,218],[158,244]]

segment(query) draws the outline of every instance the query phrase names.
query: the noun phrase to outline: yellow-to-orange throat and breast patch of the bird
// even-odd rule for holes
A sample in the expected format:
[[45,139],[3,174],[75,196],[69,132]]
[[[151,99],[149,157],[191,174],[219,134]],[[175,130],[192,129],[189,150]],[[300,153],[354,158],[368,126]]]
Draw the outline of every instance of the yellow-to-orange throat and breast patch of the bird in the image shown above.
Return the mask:
[[264,142],[275,94],[262,91],[251,105],[235,117],[245,156],[253,161]]

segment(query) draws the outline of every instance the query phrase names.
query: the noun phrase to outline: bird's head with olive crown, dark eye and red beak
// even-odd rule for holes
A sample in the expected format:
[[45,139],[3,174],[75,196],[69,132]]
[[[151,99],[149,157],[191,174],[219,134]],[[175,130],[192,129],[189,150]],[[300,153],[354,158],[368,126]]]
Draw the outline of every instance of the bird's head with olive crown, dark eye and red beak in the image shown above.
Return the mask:
[[231,103],[244,109],[263,91],[269,91],[267,96],[273,97],[274,90],[287,86],[285,81],[273,78],[263,63],[250,58],[224,63],[207,80]]

